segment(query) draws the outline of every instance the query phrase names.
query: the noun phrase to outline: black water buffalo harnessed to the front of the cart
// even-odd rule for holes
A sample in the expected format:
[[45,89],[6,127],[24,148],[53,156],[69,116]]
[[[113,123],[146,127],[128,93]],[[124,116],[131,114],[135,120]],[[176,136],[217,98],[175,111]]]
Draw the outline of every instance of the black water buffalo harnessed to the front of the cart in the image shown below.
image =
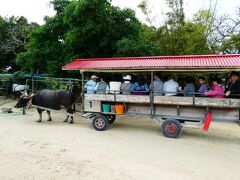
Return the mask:
[[[65,107],[68,113],[73,114],[75,111],[75,102],[76,96],[74,93],[68,90],[40,90],[35,95],[31,96],[22,96],[17,104],[16,108],[28,107],[31,104],[42,106],[54,110],[60,110],[61,106]],[[42,112],[44,110],[37,108],[39,114],[39,120],[37,122],[42,121]],[[52,121],[50,111],[47,111],[48,121]],[[64,122],[68,122],[69,116],[64,120]],[[69,123],[73,123],[73,117],[71,117],[71,121]]]

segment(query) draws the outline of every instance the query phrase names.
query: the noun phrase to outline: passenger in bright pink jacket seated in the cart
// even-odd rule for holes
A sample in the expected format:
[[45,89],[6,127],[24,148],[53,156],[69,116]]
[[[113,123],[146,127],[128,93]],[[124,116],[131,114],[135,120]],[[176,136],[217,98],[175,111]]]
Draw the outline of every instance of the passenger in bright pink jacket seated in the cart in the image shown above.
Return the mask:
[[213,78],[211,82],[212,90],[205,92],[205,95],[212,98],[224,98],[224,89],[220,84],[221,80],[219,78]]

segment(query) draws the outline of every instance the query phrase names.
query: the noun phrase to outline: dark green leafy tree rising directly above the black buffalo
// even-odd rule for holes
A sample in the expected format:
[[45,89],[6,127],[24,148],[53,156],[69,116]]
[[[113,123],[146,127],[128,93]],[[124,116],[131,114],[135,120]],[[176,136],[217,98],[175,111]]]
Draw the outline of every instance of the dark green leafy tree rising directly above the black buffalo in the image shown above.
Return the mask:
[[45,24],[30,35],[27,51],[18,54],[17,64],[23,71],[31,73],[59,74],[64,64],[65,33],[64,9],[70,1],[55,0],[51,4],[56,11],[54,17],[45,17]]

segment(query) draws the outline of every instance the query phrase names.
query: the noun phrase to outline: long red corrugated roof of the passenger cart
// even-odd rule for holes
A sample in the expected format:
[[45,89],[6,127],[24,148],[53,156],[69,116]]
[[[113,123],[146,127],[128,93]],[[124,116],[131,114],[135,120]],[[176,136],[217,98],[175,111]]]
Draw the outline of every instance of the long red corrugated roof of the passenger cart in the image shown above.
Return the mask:
[[76,59],[63,70],[240,70],[240,54]]

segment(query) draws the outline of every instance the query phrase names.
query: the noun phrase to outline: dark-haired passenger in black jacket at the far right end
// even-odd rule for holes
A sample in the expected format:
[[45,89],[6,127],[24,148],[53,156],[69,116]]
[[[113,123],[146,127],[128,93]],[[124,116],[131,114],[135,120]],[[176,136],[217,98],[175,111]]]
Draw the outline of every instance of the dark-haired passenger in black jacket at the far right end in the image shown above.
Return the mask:
[[229,98],[240,98],[239,73],[233,71],[230,75],[230,82],[225,90],[225,96]]

